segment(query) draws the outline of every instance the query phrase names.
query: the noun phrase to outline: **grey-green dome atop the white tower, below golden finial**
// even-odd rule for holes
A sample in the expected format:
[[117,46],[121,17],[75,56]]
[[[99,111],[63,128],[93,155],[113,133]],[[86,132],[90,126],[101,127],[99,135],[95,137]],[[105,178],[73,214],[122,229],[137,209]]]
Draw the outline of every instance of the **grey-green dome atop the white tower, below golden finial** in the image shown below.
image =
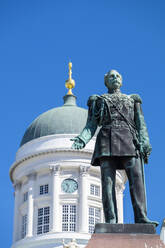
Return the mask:
[[76,106],[76,97],[64,96],[64,105],[39,115],[27,128],[20,146],[53,134],[79,134],[87,120],[87,110]]

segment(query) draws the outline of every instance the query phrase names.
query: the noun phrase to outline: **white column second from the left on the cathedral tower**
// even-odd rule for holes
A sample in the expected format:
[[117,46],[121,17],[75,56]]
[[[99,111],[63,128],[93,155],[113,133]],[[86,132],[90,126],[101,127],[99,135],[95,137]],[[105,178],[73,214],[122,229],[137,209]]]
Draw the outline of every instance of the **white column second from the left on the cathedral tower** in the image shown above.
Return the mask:
[[34,182],[36,173],[28,175],[28,210],[27,210],[27,232],[26,237],[33,236],[33,221],[34,221]]

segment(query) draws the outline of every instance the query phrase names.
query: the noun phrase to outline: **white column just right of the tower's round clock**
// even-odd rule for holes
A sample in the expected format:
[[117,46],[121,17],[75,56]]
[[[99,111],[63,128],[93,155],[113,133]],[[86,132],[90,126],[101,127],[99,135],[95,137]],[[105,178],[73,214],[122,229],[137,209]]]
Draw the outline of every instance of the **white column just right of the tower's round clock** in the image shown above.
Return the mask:
[[82,233],[88,233],[88,169],[89,167],[80,165],[79,232]]

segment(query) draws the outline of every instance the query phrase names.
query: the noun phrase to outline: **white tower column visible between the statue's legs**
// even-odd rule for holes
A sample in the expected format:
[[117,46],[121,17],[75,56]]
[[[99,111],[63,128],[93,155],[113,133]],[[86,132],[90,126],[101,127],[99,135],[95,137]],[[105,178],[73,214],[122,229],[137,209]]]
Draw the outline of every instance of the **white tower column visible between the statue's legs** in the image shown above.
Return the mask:
[[125,189],[124,184],[116,185],[118,223],[123,223],[123,191],[124,189]]

